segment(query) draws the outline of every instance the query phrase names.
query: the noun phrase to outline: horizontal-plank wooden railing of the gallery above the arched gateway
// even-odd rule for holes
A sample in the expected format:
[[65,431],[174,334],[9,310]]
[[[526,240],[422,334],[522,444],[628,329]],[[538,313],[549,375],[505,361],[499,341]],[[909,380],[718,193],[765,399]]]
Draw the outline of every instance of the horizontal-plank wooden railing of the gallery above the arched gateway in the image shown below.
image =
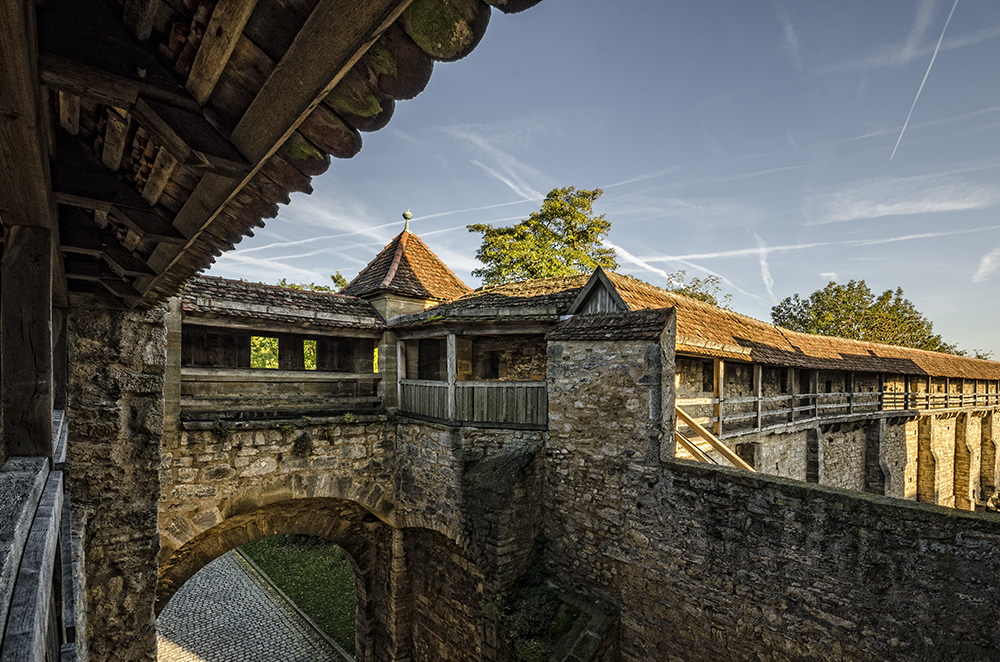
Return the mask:
[[377,373],[252,368],[181,369],[181,414],[257,416],[358,411],[381,404]]

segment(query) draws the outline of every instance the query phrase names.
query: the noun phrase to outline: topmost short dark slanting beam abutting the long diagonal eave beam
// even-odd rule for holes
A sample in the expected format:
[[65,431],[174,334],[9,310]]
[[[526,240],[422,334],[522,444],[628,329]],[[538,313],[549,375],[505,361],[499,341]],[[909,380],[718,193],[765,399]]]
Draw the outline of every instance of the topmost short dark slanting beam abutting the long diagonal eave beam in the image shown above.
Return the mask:
[[197,170],[245,175],[246,160],[200,113],[140,98],[135,116],[177,160]]

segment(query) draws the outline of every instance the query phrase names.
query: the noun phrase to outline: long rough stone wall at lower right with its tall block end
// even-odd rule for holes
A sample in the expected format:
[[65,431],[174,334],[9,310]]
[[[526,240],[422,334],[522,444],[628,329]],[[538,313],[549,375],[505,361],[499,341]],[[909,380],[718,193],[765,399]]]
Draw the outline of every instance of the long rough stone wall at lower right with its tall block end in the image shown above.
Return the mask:
[[[547,565],[620,609],[618,658],[986,660],[1000,518],[649,462],[630,343],[550,345]],[[636,404],[633,401],[638,400]],[[954,437],[952,437],[954,440]]]

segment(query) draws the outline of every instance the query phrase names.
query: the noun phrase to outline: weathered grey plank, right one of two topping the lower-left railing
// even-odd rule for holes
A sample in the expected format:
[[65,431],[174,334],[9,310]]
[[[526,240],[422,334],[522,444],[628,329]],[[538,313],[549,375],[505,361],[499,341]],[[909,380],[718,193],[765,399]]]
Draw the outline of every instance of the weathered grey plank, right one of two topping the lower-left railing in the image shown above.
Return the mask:
[[45,662],[56,550],[62,520],[63,474],[50,472],[21,557],[0,662]]

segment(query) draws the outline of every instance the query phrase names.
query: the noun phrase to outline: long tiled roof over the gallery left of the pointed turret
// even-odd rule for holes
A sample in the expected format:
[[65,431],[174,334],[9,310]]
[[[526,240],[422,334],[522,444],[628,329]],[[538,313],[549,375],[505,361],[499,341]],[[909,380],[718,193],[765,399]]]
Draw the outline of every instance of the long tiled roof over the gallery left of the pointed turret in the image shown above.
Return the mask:
[[384,326],[364,299],[214,276],[197,276],[188,281],[181,293],[181,307],[185,313],[244,320],[361,329]]

